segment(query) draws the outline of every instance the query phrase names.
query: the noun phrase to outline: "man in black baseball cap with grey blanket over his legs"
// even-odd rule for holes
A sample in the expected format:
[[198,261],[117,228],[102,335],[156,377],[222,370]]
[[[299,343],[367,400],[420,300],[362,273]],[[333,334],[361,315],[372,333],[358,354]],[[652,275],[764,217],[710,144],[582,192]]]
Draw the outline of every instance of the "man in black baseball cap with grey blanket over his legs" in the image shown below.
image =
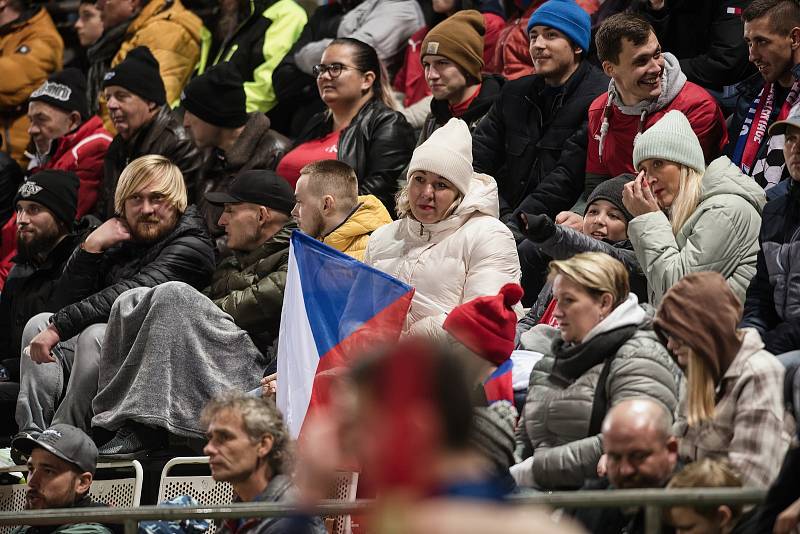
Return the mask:
[[117,432],[103,457],[141,456],[166,432],[204,437],[203,406],[223,391],[253,389],[273,365],[294,191],[272,171],[250,170],[206,198],[224,205],[219,224],[233,251],[211,285],[133,289],[111,310],[115,343],[104,347],[92,403],[92,426]]

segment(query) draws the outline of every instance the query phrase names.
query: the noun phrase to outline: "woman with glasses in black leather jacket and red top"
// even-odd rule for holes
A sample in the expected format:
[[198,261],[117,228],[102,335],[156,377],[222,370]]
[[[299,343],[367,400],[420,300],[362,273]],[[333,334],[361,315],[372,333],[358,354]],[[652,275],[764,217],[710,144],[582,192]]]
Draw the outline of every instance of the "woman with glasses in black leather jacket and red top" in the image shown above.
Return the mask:
[[375,195],[393,212],[397,180],[415,139],[403,115],[392,109],[375,49],[357,39],[335,39],[314,75],[328,109],[312,117],[278,164],[278,174],[294,186],[308,163],[338,159],[355,169],[359,194]]

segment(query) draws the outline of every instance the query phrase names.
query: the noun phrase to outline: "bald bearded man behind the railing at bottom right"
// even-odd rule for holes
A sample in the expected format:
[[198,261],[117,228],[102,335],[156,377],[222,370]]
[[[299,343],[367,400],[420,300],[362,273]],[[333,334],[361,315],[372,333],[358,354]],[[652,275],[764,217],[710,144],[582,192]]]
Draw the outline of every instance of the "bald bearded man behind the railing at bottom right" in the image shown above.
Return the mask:
[[[678,440],[672,415],[650,399],[618,403],[603,421],[605,454],[597,467],[606,478],[582,489],[647,489],[667,485],[678,465]],[[575,513],[595,534],[644,534],[644,509],[584,508]],[[672,532],[669,530],[668,532]]]

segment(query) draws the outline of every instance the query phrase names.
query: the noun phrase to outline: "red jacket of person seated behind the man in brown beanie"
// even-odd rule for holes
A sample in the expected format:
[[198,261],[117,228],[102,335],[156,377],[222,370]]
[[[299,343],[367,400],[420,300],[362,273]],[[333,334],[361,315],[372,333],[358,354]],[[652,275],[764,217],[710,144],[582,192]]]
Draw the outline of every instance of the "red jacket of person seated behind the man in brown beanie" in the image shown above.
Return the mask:
[[[503,17],[494,13],[482,13],[482,15],[483,24],[486,27],[483,36],[483,61],[488,66],[494,58],[497,39],[505,26],[505,21]],[[403,66],[394,77],[394,88],[405,94],[403,105],[406,107],[431,94],[428,82],[425,81],[425,69],[422,68],[422,58],[420,57],[420,47],[426,35],[428,35],[428,27],[423,26],[408,39]],[[493,72],[488,68],[484,68],[484,71]]]

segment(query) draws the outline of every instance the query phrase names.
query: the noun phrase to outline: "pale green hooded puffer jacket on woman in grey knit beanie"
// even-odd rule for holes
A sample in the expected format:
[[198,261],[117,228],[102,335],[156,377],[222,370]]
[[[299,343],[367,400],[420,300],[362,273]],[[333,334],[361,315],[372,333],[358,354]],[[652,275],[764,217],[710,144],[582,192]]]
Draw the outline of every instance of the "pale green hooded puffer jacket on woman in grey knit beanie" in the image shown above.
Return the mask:
[[647,276],[650,303],[684,275],[720,273],[744,300],[756,272],[764,190],[721,156],[703,174],[700,202],[677,235],[662,211],[645,213],[628,224],[628,237]]

